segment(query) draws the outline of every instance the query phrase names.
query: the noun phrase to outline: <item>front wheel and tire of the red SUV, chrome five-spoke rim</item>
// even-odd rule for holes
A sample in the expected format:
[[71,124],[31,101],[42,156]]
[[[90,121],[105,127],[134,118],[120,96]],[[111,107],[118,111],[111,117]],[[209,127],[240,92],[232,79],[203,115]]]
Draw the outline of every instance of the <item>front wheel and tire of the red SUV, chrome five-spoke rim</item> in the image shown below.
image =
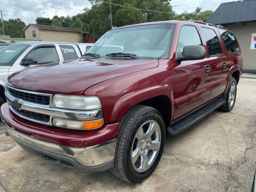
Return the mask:
[[158,110],[135,106],[122,118],[111,172],[127,182],[145,180],[156,169],[164,149],[165,124]]

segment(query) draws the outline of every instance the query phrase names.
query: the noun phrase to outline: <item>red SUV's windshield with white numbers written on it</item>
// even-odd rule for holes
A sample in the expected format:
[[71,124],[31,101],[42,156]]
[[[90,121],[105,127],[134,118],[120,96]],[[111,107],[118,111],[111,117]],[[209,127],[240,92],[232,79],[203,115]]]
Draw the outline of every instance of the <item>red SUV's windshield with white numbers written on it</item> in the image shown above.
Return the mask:
[[100,56],[129,53],[138,58],[167,58],[174,28],[173,24],[157,24],[110,30],[86,53]]

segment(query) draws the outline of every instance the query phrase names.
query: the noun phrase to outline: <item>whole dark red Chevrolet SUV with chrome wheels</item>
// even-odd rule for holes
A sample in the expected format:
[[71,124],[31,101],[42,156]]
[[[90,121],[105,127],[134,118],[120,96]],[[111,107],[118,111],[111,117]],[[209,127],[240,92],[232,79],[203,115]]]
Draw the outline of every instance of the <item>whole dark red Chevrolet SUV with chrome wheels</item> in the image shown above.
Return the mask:
[[136,183],[156,169],[166,133],[233,109],[242,66],[236,37],[221,26],[120,27],[76,61],[10,75],[1,116],[12,138],[42,159]]

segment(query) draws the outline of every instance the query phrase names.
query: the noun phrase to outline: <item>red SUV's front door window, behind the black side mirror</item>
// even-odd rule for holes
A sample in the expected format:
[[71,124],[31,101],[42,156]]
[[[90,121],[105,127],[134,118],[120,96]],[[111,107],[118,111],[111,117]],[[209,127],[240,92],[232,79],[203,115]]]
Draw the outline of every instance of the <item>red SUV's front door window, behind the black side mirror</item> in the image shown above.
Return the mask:
[[183,47],[188,45],[202,45],[200,36],[194,26],[183,26],[180,30],[178,49],[183,52]]

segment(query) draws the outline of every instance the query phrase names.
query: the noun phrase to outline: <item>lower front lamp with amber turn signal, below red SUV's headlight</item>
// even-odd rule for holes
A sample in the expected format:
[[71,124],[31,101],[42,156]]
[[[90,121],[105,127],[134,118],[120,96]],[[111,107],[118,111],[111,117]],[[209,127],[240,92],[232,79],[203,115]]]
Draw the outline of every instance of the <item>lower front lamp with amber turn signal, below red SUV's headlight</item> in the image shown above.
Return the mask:
[[75,129],[75,130],[92,130],[98,129],[103,125],[103,119],[98,119],[96,121],[75,121],[70,119],[62,119],[62,118],[53,118],[52,124],[57,127],[62,127],[66,129]]

